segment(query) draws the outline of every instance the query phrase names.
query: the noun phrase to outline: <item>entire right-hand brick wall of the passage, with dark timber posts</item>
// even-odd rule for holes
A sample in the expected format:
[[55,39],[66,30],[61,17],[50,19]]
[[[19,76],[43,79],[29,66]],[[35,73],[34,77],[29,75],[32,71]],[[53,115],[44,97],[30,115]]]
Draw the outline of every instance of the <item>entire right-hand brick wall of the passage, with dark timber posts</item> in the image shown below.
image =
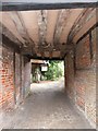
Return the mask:
[[66,55],[65,74],[68,96],[95,127],[96,28],[75,45],[75,50]]

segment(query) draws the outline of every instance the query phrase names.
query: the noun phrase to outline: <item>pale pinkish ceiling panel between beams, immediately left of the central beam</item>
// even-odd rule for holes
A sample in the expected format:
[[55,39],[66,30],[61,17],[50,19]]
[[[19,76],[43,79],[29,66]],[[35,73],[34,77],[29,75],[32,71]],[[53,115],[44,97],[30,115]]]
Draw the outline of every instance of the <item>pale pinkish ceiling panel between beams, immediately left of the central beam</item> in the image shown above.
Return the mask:
[[[26,31],[26,34],[28,39],[30,39],[29,43],[34,43],[35,47],[38,46],[39,43],[39,36],[38,36],[38,11],[21,11],[20,17],[23,21],[24,28]],[[33,45],[34,46],[34,45]]]

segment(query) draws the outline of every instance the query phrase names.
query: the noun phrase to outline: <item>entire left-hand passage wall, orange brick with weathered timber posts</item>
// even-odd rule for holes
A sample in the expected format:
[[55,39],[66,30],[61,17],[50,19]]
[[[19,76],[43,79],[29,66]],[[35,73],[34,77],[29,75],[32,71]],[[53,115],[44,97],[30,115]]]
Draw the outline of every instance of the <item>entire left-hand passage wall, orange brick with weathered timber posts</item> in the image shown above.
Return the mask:
[[19,105],[29,91],[30,62],[13,47],[3,44],[1,49],[0,108],[8,110]]

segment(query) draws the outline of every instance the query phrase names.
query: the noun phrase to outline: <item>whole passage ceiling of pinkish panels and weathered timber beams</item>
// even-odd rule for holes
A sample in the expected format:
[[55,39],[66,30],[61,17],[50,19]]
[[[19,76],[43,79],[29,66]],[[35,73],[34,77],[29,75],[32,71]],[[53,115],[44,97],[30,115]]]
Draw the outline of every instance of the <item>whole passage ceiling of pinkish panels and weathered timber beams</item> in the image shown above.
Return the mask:
[[[78,40],[85,31],[79,28],[76,32],[76,25],[93,11],[95,9],[0,12],[0,26],[3,36],[12,40],[13,46],[20,46],[23,55],[32,58],[62,59],[72,45],[68,44],[68,38],[71,37],[74,43]],[[95,12],[94,14],[96,15]],[[94,14],[89,19],[95,19]],[[91,24],[95,23],[94,20]],[[87,23],[83,24],[84,27],[89,27]],[[74,35],[74,32],[77,35]]]

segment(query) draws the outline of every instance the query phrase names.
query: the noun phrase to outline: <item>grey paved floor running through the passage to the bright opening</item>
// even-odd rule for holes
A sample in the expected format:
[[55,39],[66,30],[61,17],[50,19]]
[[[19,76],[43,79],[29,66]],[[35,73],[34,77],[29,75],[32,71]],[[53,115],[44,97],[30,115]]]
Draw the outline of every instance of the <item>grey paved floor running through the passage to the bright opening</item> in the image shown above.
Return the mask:
[[8,129],[90,129],[84,116],[70,104],[63,79],[58,82],[32,84],[25,103],[3,115]]

